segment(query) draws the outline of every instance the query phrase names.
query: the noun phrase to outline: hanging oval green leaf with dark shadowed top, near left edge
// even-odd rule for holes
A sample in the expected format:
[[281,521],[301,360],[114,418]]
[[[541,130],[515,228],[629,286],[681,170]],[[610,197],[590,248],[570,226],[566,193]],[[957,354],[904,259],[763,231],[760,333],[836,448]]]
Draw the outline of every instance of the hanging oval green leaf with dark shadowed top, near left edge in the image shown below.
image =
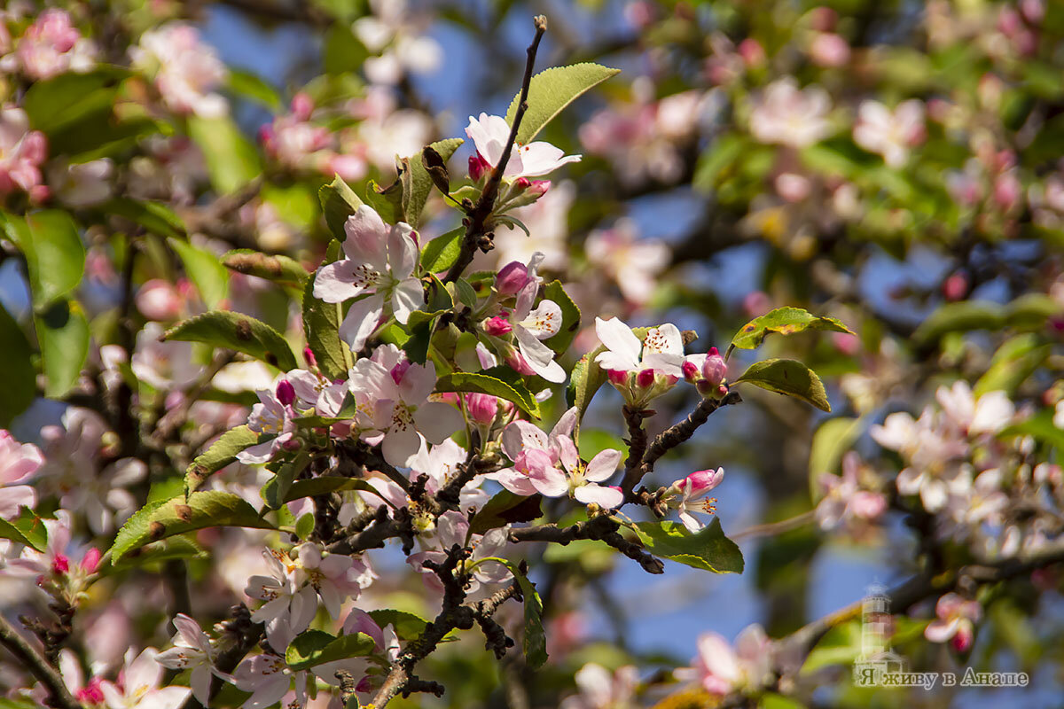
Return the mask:
[[48,381],[45,395],[60,399],[78,382],[88,356],[88,320],[77,301],[57,301],[35,317],[34,323]]

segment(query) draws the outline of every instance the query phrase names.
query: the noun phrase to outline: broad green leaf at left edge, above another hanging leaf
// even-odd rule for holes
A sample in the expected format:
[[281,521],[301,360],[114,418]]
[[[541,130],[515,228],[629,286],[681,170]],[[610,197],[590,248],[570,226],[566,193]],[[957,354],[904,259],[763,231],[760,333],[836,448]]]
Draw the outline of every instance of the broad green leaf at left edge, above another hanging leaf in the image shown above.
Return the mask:
[[24,219],[5,215],[4,226],[26,256],[35,305],[52,303],[78,287],[85,272],[85,247],[70,215],[57,209]]

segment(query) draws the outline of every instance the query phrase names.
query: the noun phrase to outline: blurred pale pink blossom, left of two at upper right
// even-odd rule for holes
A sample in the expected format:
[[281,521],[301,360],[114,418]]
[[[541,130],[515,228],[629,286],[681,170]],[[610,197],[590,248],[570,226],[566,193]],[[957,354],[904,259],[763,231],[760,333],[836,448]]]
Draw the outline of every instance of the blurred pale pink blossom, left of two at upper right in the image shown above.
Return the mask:
[[798,88],[793,77],[778,79],[754,99],[750,133],[762,142],[805,148],[831,132],[831,99],[819,86]]

